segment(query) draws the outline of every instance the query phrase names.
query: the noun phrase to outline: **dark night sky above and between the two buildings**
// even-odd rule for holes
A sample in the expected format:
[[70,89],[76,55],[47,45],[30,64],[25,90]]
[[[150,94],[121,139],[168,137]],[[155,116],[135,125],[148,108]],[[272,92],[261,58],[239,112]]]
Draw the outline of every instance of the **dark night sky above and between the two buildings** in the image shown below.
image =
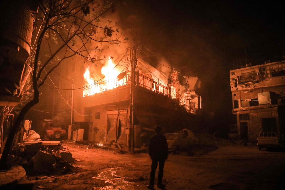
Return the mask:
[[129,0],[119,8],[121,24],[138,31],[141,46],[203,80],[202,96],[216,126],[236,122],[229,86],[233,59],[255,65],[282,58],[284,10],[284,1]]

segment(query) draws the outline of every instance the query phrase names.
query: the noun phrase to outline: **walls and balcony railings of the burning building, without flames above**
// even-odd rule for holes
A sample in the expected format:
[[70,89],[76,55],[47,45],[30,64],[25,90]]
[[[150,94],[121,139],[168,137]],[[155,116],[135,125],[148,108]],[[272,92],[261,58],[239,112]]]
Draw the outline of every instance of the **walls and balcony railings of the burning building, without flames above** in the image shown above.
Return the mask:
[[[62,63],[60,73],[64,78],[60,79],[59,88],[71,89],[71,81],[74,81],[74,126],[72,126],[72,130],[84,128],[84,140],[130,145],[132,134],[130,70],[130,67],[126,66],[115,76],[106,76],[95,83],[91,81],[90,84],[86,84],[87,69],[86,65],[84,67],[82,59],[73,57]],[[134,89],[134,133],[135,147],[138,148],[148,144],[149,138],[155,134],[154,126],[161,125],[164,132],[171,131],[172,124],[178,124],[175,121],[180,117],[194,115],[190,114],[190,110],[187,112],[185,105],[182,105],[177,98],[179,95],[181,96],[180,89],[173,90],[171,85],[167,84],[167,80],[163,81],[153,74],[155,70],[159,72],[143,60],[137,61]],[[93,72],[90,68],[89,71]],[[190,81],[192,80],[190,79]],[[191,93],[195,94],[194,89],[200,88],[198,78],[195,78],[195,82],[192,83],[187,87],[190,86],[189,92],[192,90]],[[61,97],[59,98],[65,101],[61,101],[58,107],[61,110],[70,109],[71,90],[60,90],[60,93]],[[185,96],[183,94],[182,96]],[[198,100],[196,96],[192,96],[192,102],[194,99]],[[195,105],[198,110],[198,102]],[[195,107],[193,108],[195,109]]]

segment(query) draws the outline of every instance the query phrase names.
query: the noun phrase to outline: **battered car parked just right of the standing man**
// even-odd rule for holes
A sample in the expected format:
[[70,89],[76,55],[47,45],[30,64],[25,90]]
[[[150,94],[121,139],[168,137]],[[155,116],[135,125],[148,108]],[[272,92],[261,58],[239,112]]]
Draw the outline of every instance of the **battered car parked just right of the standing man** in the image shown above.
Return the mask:
[[190,138],[184,133],[166,133],[164,134],[168,144],[168,151],[180,154],[181,149],[190,149]]

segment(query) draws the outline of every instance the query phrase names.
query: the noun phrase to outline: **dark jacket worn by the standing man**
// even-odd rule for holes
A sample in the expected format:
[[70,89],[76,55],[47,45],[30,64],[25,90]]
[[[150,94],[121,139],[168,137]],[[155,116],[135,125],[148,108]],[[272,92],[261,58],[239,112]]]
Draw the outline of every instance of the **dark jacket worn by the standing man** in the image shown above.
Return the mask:
[[150,138],[148,152],[151,157],[154,158],[167,158],[168,145],[166,137],[161,134],[156,134]]

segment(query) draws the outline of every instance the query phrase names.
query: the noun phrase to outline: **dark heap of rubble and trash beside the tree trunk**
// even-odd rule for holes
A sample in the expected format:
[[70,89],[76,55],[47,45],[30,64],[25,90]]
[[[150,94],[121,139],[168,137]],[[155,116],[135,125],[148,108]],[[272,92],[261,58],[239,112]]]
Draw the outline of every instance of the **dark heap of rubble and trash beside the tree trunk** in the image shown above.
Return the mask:
[[11,153],[11,165],[21,165],[28,175],[36,173],[76,173],[78,168],[73,166],[75,161],[72,153],[55,141],[36,143],[19,143]]

